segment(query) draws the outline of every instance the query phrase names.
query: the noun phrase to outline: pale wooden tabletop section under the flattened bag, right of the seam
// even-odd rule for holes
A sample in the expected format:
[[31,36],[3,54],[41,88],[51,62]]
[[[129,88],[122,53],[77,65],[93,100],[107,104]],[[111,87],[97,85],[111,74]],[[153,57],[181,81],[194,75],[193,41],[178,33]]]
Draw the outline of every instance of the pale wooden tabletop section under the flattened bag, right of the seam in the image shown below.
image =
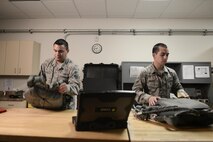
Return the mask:
[[129,117],[132,142],[207,142],[213,141],[213,125],[208,128],[177,129],[155,121],[142,121]]

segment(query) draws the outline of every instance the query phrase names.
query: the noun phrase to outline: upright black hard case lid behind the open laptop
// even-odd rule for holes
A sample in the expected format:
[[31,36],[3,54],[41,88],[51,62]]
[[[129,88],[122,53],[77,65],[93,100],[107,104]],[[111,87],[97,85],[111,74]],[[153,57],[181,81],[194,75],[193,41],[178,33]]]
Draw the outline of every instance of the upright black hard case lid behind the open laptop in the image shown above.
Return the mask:
[[119,89],[119,66],[117,64],[84,65],[83,90],[106,91]]

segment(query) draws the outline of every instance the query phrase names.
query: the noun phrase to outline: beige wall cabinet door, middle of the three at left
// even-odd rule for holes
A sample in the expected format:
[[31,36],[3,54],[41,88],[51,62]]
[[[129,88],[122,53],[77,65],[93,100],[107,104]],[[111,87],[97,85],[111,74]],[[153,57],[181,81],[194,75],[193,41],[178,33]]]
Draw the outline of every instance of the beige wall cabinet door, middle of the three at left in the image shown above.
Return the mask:
[[19,41],[7,41],[5,75],[17,75],[19,62]]

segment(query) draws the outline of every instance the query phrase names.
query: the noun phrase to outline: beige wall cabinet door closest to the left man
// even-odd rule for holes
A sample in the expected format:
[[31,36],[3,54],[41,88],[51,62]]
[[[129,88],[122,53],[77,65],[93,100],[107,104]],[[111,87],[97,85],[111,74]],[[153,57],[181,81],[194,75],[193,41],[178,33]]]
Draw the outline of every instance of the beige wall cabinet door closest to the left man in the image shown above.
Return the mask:
[[33,41],[20,41],[18,75],[31,75],[33,64]]

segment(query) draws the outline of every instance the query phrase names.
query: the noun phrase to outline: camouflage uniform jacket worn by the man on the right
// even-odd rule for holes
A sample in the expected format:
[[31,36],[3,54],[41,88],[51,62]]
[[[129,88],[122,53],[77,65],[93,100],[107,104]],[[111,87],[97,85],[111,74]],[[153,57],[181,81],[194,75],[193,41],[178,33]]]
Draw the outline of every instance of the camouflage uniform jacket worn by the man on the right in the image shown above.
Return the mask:
[[171,92],[176,94],[183,87],[173,69],[164,66],[159,72],[151,64],[140,73],[132,89],[136,92],[136,102],[141,104],[148,103],[150,95],[169,98]]

